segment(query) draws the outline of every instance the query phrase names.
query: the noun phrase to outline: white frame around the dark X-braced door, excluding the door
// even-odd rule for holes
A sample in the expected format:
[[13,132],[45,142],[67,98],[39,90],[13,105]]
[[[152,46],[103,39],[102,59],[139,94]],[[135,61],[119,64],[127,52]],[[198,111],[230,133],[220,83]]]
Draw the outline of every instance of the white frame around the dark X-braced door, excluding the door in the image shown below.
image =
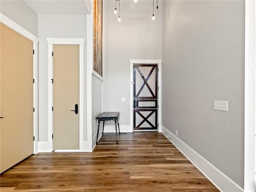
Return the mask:
[[162,60],[156,59],[130,59],[130,129],[133,131],[133,64],[158,65],[158,132],[162,132]]

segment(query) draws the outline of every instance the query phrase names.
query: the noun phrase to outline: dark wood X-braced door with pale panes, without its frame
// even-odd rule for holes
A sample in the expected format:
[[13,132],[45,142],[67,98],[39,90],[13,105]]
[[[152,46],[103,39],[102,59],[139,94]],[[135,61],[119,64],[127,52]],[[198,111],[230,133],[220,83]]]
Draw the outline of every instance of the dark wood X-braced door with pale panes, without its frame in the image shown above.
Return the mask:
[[133,120],[134,130],[157,130],[158,84],[157,64],[134,64]]

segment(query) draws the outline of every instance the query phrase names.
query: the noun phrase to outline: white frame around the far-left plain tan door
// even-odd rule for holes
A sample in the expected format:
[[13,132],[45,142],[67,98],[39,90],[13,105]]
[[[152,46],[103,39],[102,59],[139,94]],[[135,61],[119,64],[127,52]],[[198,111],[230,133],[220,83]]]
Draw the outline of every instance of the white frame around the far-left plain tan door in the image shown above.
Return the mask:
[[23,35],[33,42],[33,77],[34,77],[34,154],[38,153],[38,37],[16,24],[14,21],[0,13],[0,22]]

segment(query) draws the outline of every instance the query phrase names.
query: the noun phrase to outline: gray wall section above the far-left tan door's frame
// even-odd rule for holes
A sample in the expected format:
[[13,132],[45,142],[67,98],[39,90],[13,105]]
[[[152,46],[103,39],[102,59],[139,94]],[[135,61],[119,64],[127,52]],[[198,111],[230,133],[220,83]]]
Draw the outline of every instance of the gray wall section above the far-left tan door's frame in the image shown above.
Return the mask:
[[0,11],[33,35],[38,36],[37,14],[24,1],[0,0]]

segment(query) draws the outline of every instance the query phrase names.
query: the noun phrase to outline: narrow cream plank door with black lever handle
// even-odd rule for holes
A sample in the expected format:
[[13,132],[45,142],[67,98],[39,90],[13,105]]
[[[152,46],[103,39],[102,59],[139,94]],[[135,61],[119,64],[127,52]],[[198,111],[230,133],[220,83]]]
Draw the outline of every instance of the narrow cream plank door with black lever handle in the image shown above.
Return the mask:
[[78,149],[79,45],[54,45],[53,150]]

